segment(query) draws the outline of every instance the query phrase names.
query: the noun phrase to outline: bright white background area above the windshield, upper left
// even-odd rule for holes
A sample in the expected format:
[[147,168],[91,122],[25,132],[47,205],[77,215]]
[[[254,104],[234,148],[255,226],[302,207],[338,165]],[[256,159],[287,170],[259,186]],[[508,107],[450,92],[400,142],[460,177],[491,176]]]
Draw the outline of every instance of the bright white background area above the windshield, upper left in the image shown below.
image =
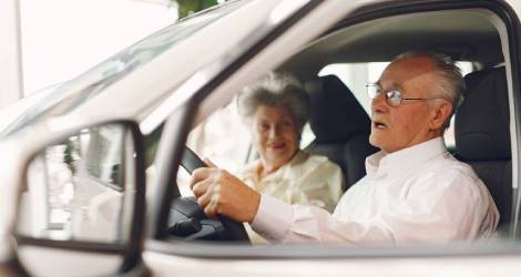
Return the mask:
[[20,0],[20,14],[28,95],[74,78],[173,23],[177,10],[136,0]]

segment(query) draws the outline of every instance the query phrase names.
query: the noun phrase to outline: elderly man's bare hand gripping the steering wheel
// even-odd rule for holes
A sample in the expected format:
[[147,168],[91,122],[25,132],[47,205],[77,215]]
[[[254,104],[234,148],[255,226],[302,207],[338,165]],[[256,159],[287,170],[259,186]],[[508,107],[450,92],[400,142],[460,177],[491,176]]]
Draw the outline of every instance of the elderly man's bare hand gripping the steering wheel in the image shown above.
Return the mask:
[[260,194],[225,170],[215,167],[208,160],[205,162],[211,167],[195,170],[190,183],[204,213],[211,218],[224,215],[236,222],[252,223]]

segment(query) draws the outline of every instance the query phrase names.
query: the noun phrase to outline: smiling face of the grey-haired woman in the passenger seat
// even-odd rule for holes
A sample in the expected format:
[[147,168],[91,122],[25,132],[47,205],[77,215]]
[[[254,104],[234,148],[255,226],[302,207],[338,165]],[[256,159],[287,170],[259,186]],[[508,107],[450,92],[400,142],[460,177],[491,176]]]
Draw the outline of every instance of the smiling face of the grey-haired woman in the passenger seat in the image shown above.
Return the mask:
[[254,114],[253,141],[265,166],[276,170],[297,151],[295,119],[287,106],[260,105]]

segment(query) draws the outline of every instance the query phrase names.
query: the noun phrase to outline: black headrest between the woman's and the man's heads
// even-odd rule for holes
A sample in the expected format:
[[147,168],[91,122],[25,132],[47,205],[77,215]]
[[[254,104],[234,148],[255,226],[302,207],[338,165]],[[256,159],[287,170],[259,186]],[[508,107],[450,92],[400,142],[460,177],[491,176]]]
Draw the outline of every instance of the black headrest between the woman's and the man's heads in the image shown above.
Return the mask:
[[370,132],[370,119],[353,92],[335,75],[306,82],[311,100],[309,124],[318,143],[346,142]]

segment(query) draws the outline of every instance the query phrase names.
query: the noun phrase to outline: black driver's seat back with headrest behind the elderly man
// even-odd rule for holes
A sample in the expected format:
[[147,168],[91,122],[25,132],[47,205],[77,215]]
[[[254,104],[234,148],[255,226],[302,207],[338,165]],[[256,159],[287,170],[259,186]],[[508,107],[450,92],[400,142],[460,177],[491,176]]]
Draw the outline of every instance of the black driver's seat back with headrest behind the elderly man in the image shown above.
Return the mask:
[[456,151],[489,188],[500,213],[499,225],[510,222],[512,162],[509,102],[504,68],[469,73],[467,93],[456,113]]

